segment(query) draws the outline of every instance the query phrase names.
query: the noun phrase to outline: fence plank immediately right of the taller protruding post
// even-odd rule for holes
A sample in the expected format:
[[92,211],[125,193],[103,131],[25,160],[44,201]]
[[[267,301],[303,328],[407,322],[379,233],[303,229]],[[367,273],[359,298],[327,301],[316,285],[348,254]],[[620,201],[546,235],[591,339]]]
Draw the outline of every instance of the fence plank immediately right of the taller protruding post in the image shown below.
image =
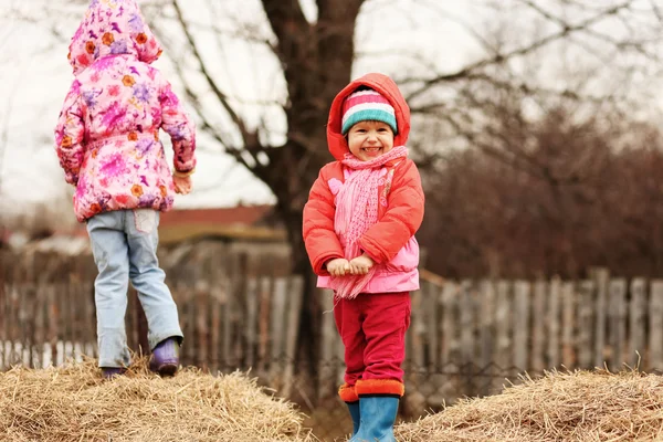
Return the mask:
[[609,296],[609,345],[611,351],[610,368],[618,371],[624,362],[624,347],[627,340],[627,280],[611,280],[608,286]]

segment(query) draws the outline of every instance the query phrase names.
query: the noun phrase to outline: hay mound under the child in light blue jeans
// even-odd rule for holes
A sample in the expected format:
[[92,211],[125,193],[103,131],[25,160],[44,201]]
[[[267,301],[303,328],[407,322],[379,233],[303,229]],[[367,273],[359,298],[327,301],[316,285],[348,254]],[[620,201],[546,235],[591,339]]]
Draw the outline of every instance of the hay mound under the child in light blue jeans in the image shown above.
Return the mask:
[[0,372],[0,441],[314,441],[293,404],[235,372],[192,368],[173,378],[147,358],[104,381],[95,360]]

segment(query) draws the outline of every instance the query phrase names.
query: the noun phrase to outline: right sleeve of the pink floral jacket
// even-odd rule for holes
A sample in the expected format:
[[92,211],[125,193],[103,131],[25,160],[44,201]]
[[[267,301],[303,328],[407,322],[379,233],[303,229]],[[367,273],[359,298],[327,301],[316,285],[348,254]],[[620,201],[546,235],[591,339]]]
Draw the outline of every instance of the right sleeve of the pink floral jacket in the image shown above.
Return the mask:
[[180,173],[196,169],[196,125],[189,118],[170,83],[161,78],[159,94],[161,103],[161,127],[172,140],[173,166]]

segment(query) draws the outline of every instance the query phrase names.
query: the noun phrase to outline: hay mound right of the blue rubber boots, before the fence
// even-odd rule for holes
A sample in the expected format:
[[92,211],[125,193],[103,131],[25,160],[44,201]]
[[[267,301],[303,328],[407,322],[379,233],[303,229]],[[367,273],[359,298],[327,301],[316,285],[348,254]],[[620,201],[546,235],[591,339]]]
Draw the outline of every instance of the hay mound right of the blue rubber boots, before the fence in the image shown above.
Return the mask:
[[663,377],[547,372],[397,427],[399,442],[663,441]]

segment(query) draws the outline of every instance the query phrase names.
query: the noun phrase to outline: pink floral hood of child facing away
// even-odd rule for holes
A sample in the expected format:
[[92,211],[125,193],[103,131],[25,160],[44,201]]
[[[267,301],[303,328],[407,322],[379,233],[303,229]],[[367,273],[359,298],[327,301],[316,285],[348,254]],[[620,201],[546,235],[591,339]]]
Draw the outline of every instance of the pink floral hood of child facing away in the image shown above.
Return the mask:
[[136,0],[91,0],[70,44],[74,75],[107,55],[134,55],[151,63],[161,46],[140,13]]

